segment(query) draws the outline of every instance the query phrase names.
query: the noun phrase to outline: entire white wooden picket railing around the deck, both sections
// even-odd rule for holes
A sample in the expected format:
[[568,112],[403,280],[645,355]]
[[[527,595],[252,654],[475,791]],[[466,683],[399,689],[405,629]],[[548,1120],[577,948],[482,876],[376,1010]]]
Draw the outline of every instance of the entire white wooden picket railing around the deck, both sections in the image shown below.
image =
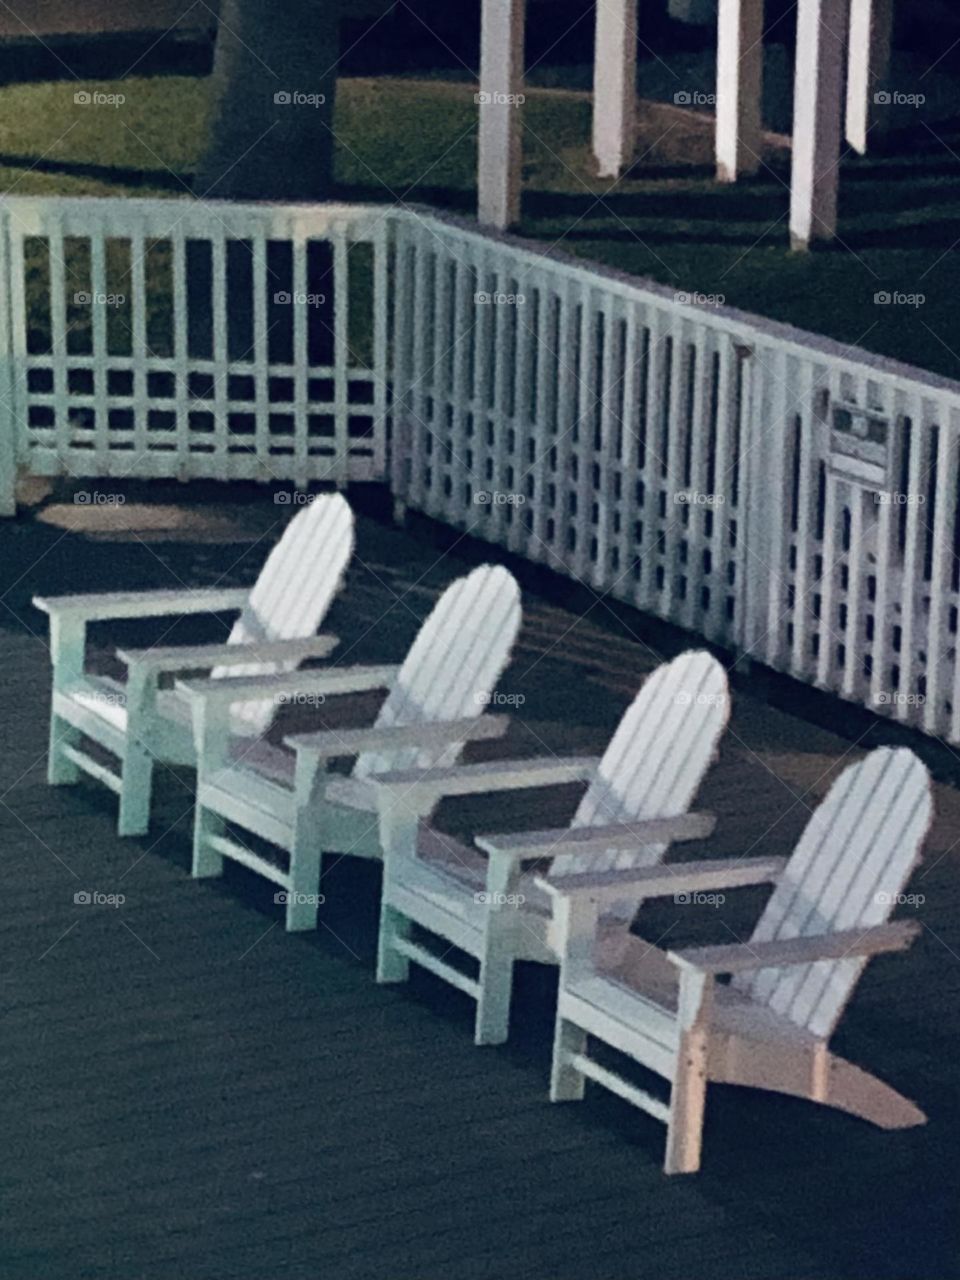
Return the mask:
[[0,282],[5,511],[384,480],[960,742],[960,384],[417,210],[9,198]]

